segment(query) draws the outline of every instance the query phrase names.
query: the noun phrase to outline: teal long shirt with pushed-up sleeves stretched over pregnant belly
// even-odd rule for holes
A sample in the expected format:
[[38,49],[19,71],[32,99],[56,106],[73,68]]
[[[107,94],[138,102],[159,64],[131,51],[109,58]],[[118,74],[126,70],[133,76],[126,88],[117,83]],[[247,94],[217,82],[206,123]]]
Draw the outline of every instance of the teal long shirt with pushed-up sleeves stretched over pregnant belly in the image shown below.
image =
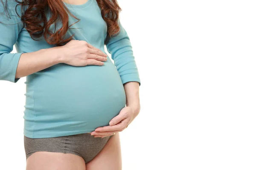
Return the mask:
[[[107,25],[96,0],[88,0],[82,5],[64,4],[81,19],[71,26],[77,29],[70,29],[66,36],[75,34],[75,40],[87,41],[105,52]],[[15,74],[22,53],[54,47],[45,40],[32,40],[15,6],[15,1],[9,1],[11,20],[0,15],[1,22],[12,24],[0,23],[0,80],[14,83],[20,79],[15,79]],[[2,5],[0,10],[3,12]],[[20,12],[20,7],[17,11]],[[70,25],[76,21],[70,16]],[[114,64],[109,58],[103,66],[76,67],[59,63],[26,77],[25,136],[48,138],[92,132],[97,127],[109,125],[125,107],[123,84],[131,81],[140,84],[140,77],[130,39],[120,20],[119,26],[119,34],[106,44]],[[51,29],[54,31],[54,26]],[[17,53],[10,53],[13,45]]]

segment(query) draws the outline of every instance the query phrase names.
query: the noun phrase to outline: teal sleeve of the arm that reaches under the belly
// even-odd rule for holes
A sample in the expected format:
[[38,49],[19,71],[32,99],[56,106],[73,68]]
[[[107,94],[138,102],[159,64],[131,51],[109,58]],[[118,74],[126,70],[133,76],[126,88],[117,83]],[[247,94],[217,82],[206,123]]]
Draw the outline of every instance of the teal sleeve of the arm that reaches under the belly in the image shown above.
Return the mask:
[[130,38],[128,37],[125,28],[119,22],[120,31],[115,37],[110,37],[106,47],[111,54],[111,58],[114,61],[117,71],[121,77],[122,83],[126,82],[139,82],[140,76],[138,68],[135,62]]

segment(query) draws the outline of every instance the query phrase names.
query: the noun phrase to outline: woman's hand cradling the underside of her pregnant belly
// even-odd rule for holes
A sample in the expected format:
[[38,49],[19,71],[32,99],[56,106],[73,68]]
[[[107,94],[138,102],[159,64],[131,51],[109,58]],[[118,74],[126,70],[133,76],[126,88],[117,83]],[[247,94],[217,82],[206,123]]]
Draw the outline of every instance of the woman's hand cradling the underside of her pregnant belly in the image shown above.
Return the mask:
[[97,127],[93,132],[91,132],[91,135],[103,138],[111,136],[114,133],[121,132],[130,125],[139,112],[140,108],[138,107],[126,106],[125,108],[122,108],[117,116],[111,119],[109,126]]

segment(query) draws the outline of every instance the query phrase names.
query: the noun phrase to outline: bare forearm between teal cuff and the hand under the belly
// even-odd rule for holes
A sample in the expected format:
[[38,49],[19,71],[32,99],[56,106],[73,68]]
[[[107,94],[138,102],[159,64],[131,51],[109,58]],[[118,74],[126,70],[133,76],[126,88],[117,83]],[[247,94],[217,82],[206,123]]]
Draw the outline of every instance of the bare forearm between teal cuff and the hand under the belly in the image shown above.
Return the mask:
[[124,84],[126,95],[126,106],[134,109],[135,113],[140,112],[139,82],[127,82]]

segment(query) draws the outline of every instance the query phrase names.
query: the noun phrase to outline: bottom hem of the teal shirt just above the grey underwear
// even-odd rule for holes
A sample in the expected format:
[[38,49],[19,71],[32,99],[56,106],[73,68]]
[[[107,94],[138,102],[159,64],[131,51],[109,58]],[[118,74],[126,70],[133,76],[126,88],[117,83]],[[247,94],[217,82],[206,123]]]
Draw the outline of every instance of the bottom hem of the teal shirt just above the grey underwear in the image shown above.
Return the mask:
[[52,137],[60,137],[60,136],[69,136],[69,135],[76,135],[80,133],[91,133],[95,129],[91,130],[74,130],[74,131],[67,131],[67,132],[54,132],[54,133],[27,133],[23,132],[23,135],[28,138],[52,138]]

